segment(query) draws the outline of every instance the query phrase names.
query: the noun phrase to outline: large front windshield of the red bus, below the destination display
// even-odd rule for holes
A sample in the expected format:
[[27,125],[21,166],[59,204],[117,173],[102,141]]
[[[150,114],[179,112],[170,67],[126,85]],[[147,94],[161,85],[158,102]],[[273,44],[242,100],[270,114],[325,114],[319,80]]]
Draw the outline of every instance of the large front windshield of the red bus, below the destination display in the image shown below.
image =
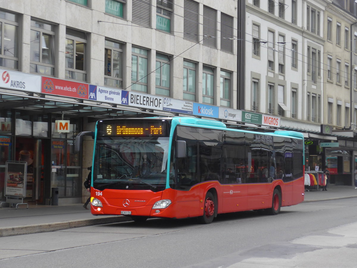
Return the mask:
[[164,190],[168,151],[168,137],[97,138],[93,186],[99,190]]

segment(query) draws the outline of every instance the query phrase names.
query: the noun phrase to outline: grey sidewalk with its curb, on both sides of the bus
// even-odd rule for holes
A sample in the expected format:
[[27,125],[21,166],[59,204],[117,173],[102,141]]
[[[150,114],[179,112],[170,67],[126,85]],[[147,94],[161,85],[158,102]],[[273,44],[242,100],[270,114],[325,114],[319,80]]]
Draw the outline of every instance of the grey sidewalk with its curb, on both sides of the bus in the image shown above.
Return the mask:
[[[344,198],[357,198],[357,189],[352,186],[331,186],[327,191],[305,192],[304,203]],[[94,216],[82,206],[29,205],[29,209],[26,209],[26,205],[20,205],[17,209],[0,208],[0,237],[131,220],[125,216]]]

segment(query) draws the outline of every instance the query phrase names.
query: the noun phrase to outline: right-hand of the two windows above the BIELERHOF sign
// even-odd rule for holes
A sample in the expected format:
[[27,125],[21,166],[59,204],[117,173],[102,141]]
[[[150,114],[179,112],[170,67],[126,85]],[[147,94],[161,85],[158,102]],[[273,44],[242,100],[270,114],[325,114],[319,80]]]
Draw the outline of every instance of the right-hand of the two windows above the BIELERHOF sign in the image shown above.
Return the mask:
[[170,96],[170,58],[167,55],[156,53],[156,94]]

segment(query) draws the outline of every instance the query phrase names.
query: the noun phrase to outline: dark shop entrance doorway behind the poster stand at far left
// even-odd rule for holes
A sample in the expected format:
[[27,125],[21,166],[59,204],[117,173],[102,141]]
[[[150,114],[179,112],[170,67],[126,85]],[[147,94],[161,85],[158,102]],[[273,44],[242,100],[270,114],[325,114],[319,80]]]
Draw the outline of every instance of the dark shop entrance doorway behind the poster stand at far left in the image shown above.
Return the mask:
[[43,203],[45,146],[47,140],[16,138],[15,160],[27,163],[26,202]]

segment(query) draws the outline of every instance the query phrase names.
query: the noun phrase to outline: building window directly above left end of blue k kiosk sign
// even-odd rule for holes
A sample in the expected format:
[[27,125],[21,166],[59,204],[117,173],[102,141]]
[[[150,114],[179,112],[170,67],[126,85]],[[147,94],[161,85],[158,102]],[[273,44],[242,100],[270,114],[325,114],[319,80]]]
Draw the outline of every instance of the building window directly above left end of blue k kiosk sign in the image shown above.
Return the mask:
[[183,99],[196,101],[196,63],[183,61]]

